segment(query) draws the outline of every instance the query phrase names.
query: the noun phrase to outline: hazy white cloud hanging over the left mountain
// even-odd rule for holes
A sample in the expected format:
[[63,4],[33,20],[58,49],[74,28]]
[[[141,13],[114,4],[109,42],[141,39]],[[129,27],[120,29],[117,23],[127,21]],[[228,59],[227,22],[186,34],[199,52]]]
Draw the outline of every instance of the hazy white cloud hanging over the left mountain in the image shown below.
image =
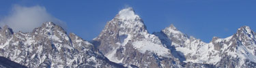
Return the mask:
[[31,32],[34,28],[40,27],[43,22],[54,22],[66,28],[65,22],[51,16],[51,14],[46,12],[45,7],[39,5],[32,7],[14,5],[10,14],[0,21],[2,27],[6,24],[11,27],[14,32]]

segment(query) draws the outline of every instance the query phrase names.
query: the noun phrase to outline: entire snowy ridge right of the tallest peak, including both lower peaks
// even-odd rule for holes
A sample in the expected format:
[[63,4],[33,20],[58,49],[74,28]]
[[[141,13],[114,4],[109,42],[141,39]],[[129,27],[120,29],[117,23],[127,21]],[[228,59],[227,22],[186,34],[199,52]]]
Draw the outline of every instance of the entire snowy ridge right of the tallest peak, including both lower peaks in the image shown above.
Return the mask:
[[203,63],[216,67],[256,67],[255,33],[249,27],[241,27],[238,33],[219,39],[214,37],[205,43],[195,37],[188,37],[173,25],[154,33],[165,46],[169,47],[176,58],[185,63]]

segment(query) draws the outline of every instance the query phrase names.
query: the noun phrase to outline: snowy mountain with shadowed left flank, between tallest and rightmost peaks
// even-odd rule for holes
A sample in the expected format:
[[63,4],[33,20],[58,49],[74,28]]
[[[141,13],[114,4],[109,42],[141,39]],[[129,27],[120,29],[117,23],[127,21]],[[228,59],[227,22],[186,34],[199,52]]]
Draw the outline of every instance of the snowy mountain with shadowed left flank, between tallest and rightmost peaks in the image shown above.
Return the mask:
[[[205,44],[200,39],[188,37],[178,31],[172,24],[159,33],[154,33],[176,54],[177,58],[184,59],[184,62],[216,64],[218,51],[214,50],[214,45]],[[178,52],[178,53],[177,53]]]

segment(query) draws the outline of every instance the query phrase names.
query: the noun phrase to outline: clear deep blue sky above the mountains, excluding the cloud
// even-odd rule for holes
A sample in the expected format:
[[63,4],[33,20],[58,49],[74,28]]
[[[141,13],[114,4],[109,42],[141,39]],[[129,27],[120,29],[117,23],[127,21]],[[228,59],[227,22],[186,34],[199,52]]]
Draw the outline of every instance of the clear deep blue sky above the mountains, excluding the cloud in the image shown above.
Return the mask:
[[133,7],[150,33],[174,24],[177,29],[209,42],[212,37],[229,37],[247,25],[256,30],[255,0],[160,0],[160,1],[1,1],[0,20],[10,16],[14,6],[40,6],[65,22],[69,33],[91,40],[124,7]]

